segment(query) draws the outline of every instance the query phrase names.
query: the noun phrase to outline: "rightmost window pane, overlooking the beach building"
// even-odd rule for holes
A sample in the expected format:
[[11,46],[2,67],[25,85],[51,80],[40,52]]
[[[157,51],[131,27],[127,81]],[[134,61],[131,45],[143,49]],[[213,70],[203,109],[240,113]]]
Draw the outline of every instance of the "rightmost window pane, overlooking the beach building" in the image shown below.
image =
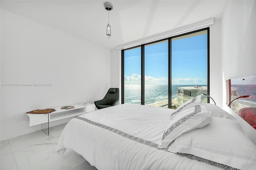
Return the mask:
[[[174,105],[207,93],[208,30],[172,38],[172,90]],[[202,97],[203,99],[203,97]],[[205,102],[207,98],[204,97]]]

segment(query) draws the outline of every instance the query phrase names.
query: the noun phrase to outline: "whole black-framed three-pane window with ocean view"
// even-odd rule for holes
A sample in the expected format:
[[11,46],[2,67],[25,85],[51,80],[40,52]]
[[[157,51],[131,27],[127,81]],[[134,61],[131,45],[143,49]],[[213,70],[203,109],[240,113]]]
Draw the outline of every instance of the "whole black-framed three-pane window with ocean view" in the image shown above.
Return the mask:
[[209,93],[208,57],[209,28],[122,50],[122,103],[175,109]]

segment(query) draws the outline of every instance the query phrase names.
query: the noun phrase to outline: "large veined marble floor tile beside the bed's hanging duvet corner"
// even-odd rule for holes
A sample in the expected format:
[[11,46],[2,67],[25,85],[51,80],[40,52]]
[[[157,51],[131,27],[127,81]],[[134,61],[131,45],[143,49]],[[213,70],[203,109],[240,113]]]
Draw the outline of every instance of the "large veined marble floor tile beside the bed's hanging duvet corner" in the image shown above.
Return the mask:
[[87,161],[73,150],[66,150],[64,156],[59,156],[55,149],[55,144],[34,145],[14,152],[14,157],[19,170],[72,170],[76,167],[87,170],[86,167],[90,167],[84,164]]

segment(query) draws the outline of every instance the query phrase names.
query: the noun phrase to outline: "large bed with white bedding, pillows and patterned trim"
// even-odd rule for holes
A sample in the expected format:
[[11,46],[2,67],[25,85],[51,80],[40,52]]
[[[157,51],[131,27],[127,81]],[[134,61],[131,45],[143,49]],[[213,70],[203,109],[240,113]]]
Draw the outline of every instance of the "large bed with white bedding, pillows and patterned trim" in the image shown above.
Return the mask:
[[176,110],[122,104],[70,120],[56,152],[98,170],[254,169],[256,145],[236,119],[200,96]]

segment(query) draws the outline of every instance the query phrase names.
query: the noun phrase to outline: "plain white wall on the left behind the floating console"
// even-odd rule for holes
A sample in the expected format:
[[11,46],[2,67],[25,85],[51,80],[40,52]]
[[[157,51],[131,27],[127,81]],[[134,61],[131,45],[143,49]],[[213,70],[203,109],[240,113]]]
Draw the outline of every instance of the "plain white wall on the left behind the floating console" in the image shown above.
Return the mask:
[[110,87],[110,50],[1,9],[0,140],[40,129],[24,113],[102,99]]

